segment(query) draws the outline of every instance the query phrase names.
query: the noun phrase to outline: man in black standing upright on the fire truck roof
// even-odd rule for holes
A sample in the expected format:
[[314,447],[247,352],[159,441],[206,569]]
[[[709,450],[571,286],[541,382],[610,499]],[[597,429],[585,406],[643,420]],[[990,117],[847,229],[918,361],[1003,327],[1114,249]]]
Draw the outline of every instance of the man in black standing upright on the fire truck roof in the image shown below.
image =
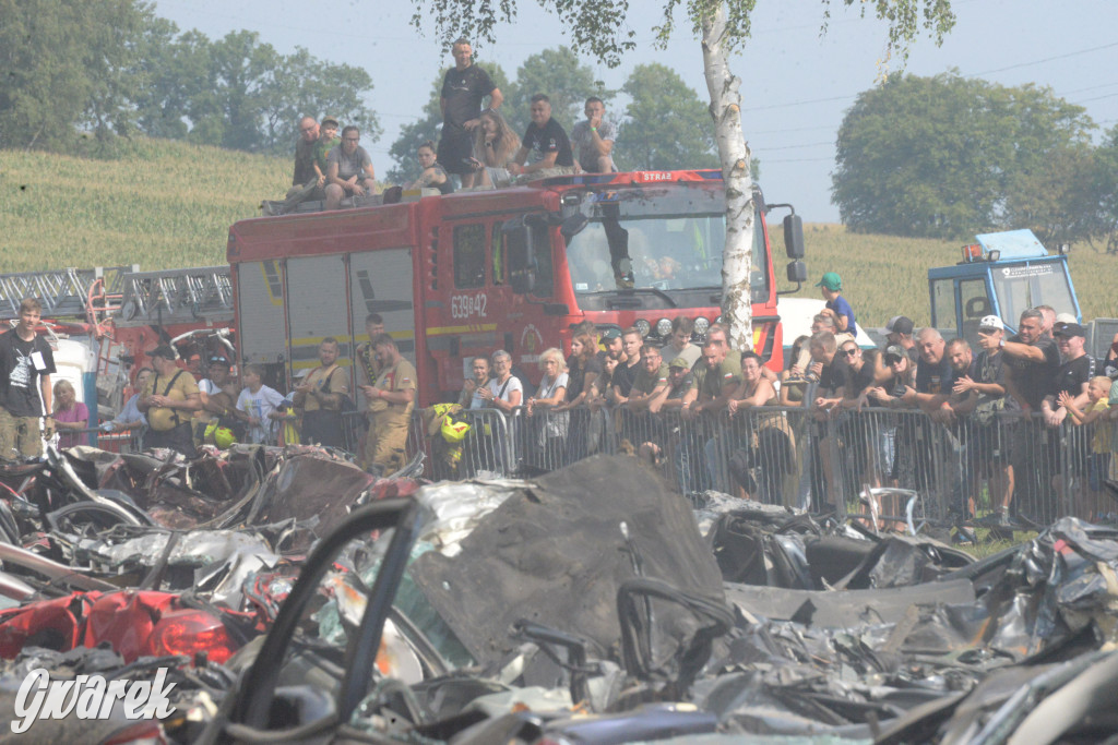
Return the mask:
[[462,188],[474,185],[474,142],[471,133],[481,123],[482,98],[490,97],[487,112],[501,108],[504,96],[489,73],[473,64],[470,42],[458,39],[451,47],[454,67],[443,78],[438,107],[443,112],[443,136],[438,141],[438,164],[462,179]]

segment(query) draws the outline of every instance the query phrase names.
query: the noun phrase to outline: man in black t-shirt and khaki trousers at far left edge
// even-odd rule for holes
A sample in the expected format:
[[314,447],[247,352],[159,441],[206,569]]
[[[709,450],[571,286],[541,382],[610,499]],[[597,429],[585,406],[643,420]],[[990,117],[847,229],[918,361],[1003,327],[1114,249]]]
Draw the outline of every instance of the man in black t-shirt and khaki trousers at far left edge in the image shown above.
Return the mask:
[[[0,336],[0,459],[42,455],[42,438],[54,437],[50,375],[55,357],[35,333],[42,306],[34,297],[19,304],[19,323]],[[39,429],[39,418],[46,426]]]

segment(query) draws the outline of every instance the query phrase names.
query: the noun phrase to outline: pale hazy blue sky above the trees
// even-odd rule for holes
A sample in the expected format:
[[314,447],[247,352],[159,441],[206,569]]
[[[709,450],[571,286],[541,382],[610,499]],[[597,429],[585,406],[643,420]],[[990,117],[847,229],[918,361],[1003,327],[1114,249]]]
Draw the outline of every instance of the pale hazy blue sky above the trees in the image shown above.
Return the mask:
[[[839,210],[831,203],[835,135],[858,93],[879,77],[884,25],[860,19],[833,0],[830,29],[821,36],[824,6],[818,0],[757,4],[752,39],[732,60],[732,69],[742,79],[742,123],[754,155],[761,160],[761,187],[768,201],[792,202],[807,221],[837,221]],[[917,41],[908,71],[936,75],[955,67],[961,75],[1008,86],[1035,83],[1084,106],[1100,128],[1118,122],[1118,0],[951,4],[958,17],[955,30],[941,47],[926,38]],[[510,78],[528,56],[566,42],[538,3],[522,0],[520,6],[518,21],[499,31],[496,45],[475,45],[479,64],[496,63]],[[633,67],[659,61],[675,68],[708,101],[701,50],[685,19],[660,50],[652,45],[651,31],[660,3],[634,0],[632,8],[637,50],[615,69],[587,58],[599,79],[619,88]],[[362,139],[362,144],[379,175],[392,166],[388,147],[400,125],[418,118],[439,68],[453,61],[433,30],[420,35],[411,27],[413,6],[405,0],[330,6],[309,0],[158,0],[155,12],[181,30],[197,28],[218,38],[248,29],[282,52],[302,46],[315,57],[363,67],[375,86],[368,103],[385,134],[378,142]],[[890,67],[896,71],[898,65],[894,60]],[[623,107],[623,102],[613,107]]]

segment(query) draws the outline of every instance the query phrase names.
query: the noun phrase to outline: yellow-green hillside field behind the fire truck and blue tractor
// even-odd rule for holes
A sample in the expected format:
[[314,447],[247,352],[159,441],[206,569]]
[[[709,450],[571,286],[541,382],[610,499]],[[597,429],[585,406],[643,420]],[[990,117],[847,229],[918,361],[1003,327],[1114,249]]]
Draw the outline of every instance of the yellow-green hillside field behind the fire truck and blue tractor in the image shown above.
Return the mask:
[[[117,160],[0,151],[0,274],[224,264],[229,226],[258,216],[260,201],[282,199],[291,183],[290,159],[144,139],[123,150]],[[777,222],[773,243],[783,278],[781,236]],[[804,238],[811,281],[798,296],[818,296],[812,285],[837,271],[869,326],[898,313],[927,323],[927,269],[957,261],[961,245],[824,223],[806,225]],[[1107,279],[1118,276],[1118,257],[1084,243],[1072,247],[1070,262],[1083,316],[1118,316],[1118,293]]]

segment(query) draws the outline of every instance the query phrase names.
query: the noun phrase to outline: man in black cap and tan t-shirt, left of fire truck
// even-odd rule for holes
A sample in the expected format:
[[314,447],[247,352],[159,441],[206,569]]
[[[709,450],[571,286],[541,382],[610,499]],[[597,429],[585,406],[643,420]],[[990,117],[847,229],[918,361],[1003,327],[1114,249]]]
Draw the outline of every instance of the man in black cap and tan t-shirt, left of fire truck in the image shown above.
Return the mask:
[[193,375],[174,364],[174,350],[163,344],[148,353],[155,374],[144,383],[136,408],[148,417],[143,447],[170,448],[192,458],[191,413],[202,407]]

